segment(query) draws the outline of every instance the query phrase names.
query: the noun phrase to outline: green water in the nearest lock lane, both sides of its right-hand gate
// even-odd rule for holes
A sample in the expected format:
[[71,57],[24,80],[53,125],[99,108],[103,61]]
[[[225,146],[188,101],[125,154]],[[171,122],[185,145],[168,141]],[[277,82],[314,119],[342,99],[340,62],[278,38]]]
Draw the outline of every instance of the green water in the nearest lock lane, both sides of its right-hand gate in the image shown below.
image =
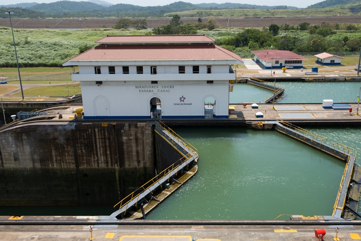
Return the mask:
[[[276,131],[174,130],[198,148],[198,173],[147,219],[274,219],[332,215],[345,163]],[[312,129],[360,146],[360,128]]]

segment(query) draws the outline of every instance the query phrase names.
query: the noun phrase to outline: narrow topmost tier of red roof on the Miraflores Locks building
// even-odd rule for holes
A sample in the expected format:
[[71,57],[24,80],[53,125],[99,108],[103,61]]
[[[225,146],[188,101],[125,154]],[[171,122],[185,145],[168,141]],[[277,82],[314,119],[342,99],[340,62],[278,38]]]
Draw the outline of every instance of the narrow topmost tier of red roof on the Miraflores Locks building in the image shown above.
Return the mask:
[[212,43],[206,35],[121,35],[107,36],[95,41],[100,44],[110,43]]

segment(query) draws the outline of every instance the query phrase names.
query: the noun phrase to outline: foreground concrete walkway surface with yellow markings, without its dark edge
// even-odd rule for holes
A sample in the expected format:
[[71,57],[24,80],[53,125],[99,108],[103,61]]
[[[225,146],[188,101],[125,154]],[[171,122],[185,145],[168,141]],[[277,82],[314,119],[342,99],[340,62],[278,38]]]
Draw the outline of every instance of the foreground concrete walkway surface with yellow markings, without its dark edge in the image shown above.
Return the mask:
[[[94,241],[316,241],[314,229],[326,231],[325,240],[336,237],[336,225],[118,225],[93,227]],[[266,221],[265,221],[266,222]],[[89,241],[92,225],[1,225],[0,240]],[[334,227],[335,226],[335,227]],[[360,240],[361,226],[339,225],[341,241]],[[191,237],[191,239],[190,239]]]

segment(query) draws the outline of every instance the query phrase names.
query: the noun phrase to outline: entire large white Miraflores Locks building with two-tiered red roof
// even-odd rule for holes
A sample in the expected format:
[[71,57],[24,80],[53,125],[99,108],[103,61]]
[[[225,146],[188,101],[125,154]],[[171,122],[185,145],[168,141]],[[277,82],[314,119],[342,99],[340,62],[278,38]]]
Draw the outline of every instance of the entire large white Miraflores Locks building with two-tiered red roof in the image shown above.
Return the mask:
[[[79,66],[85,119],[228,118],[231,65],[205,35],[107,36],[68,60]],[[208,106],[205,103],[212,102]]]

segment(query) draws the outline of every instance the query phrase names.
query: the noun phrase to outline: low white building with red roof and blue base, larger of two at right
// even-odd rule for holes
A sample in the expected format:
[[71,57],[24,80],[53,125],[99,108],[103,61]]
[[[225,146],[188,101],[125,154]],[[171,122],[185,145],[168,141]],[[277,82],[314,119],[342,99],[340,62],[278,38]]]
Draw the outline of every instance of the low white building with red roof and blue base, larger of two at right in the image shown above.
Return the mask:
[[282,69],[285,65],[301,69],[304,67],[304,60],[307,60],[288,50],[269,49],[252,51],[252,53],[254,54],[254,61],[265,69]]

